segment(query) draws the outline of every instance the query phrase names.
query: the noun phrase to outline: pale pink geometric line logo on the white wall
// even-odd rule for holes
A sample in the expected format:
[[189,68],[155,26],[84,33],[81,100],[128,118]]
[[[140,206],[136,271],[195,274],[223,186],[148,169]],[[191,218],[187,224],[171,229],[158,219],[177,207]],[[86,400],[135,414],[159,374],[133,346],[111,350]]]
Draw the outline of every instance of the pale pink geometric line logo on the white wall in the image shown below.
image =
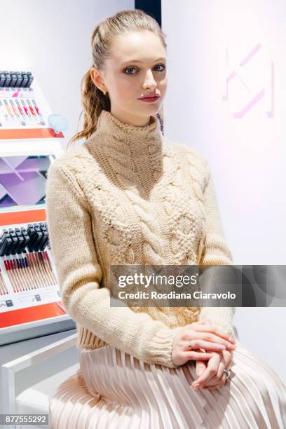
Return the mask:
[[274,62],[266,48],[226,48],[226,74],[222,100],[233,118],[262,111],[274,118]]

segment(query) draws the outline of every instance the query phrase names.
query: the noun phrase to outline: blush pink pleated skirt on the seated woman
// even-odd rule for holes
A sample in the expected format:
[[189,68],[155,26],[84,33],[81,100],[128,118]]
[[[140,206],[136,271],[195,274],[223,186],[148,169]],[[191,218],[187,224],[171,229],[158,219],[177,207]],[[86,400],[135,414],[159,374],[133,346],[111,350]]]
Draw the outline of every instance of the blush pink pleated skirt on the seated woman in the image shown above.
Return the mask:
[[285,429],[286,387],[240,341],[231,380],[193,390],[193,361],[149,365],[117,348],[81,350],[80,369],[50,400],[52,429]]

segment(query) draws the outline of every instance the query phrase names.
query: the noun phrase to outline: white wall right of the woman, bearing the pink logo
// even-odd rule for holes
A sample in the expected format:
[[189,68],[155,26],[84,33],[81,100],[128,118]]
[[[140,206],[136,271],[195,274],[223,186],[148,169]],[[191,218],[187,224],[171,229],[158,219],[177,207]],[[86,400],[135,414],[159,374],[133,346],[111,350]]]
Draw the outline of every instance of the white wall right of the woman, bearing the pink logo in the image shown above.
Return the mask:
[[[281,0],[181,0],[175,8],[162,1],[165,135],[209,161],[238,265],[286,262],[285,16]],[[231,71],[237,76],[224,101]],[[252,108],[234,118],[251,100]],[[286,381],[285,308],[240,307],[234,323],[245,346]]]

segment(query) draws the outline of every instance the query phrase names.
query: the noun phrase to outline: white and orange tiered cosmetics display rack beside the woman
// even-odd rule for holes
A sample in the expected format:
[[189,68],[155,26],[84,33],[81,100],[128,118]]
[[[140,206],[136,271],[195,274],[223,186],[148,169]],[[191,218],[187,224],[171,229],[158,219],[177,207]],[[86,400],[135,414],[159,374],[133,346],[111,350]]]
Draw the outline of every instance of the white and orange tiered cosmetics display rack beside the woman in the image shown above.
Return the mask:
[[0,345],[74,329],[46,222],[48,168],[62,132],[30,71],[0,70]]

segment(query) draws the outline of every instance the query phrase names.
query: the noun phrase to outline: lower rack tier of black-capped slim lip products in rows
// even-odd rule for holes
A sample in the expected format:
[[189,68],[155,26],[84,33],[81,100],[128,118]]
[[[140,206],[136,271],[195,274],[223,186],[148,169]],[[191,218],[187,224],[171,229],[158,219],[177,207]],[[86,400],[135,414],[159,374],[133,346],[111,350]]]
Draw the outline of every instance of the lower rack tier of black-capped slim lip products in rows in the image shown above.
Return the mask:
[[[57,304],[58,315],[64,311],[57,302],[60,291],[48,243],[46,222],[1,230],[0,313],[5,313],[7,324],[14,319],[9,311],[29,308],[31,317],[33,307],[39,303]],[[35,315],[38,311],[36,308]]]

